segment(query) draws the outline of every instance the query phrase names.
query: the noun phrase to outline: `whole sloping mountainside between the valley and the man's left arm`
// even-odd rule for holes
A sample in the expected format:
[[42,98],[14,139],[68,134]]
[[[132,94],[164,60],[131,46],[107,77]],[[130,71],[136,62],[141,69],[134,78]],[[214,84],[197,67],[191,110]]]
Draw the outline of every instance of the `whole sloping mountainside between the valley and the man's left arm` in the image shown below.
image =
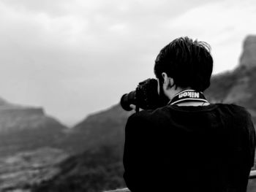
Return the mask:
[[61,162],[61,172],[32,191],[91,191],[123,187],[124,125],[131,112],[119,105],[89,115],[67,132],[61,146],[72,157]]

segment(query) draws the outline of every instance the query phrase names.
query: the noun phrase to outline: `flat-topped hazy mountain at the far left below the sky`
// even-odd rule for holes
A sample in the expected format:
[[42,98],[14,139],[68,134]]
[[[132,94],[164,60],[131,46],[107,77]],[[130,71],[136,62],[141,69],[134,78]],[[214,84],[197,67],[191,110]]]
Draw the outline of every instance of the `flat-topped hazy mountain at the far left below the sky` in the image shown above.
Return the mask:
[[58,145],[67,128],[42,108],[0,99],[0,156]]

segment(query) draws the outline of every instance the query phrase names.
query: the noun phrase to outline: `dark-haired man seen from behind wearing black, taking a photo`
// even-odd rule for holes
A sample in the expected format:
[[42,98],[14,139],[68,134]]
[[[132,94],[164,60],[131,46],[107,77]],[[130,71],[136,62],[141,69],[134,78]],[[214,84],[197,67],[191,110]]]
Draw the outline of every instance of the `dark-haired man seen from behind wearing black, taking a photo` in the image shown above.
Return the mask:
[[132,192],[245,192],[255,157],[249,113],[235,104],[209,104],[209,46],[175,39],[157,56],[159,96],[168,103],[127,120],[124,180]]

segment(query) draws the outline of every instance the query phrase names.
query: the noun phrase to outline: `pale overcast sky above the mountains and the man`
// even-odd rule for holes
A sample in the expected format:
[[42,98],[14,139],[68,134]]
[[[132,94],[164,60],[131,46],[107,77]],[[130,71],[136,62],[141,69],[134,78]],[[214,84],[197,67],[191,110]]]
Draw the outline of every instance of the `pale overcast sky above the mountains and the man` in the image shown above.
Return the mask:
[[0,0],[0,96],[78,123],[154,77],[177,37],[208,42],[214,74],[233,69],[255,18],[255,0]]

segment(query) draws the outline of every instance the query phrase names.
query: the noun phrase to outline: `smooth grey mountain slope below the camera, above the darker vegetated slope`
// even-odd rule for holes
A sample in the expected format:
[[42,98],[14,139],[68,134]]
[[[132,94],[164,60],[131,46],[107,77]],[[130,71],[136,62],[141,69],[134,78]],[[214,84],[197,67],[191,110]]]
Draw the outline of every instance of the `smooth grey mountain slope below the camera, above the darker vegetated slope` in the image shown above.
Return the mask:
[[89,115],[67,132],[62,146],[70,152],[82,153],[94,147],[115,145],[115,150],[121,156],[124,125],[129,115],[131,112],[124,111],[118,104]]

